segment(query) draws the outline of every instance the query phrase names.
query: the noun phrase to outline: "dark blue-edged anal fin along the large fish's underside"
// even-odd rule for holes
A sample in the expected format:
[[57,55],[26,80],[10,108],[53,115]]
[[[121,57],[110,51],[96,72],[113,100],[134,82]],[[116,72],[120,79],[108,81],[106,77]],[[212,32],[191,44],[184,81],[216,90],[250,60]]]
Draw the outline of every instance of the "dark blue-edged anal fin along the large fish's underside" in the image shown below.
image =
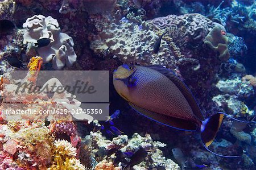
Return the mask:
[[162,123],[166,126],[170,126],[179,130],[187,130],[187,131],[195,131],[197,129],[197,125],[193,122],[186,121],[184,119],[170,117],[168,115],[155,113],[153,111],[143,109],[133,103],[129,102],[129,105],[133,107],[135,111],[140,114],[143,114],[145,117],[153,119],[156,122]]

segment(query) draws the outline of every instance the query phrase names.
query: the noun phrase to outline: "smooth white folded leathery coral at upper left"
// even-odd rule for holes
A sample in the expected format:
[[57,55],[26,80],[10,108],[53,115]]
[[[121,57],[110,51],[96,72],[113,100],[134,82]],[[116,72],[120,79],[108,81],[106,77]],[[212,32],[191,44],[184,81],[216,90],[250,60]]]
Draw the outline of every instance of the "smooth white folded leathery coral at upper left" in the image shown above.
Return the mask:
[[76,61],[76,53],[73,49],[73,39],[60,32],[59,23],[51,16],[34,15],[23,24],[26,33],[23,35],[23,44],[28,44],[27,51],[35,47],[37,40],[49,38],[51,43],[37,49],[44,63],[52,61],[54,69],[62,69],[65,65],[70,67]]

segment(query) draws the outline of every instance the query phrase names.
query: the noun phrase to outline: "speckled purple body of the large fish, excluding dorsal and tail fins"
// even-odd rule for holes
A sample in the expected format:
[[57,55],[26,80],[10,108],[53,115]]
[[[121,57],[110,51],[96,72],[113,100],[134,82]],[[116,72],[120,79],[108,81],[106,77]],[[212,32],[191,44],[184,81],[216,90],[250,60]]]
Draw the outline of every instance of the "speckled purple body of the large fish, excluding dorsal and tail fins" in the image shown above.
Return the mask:
[[[150,113],[146,115],[155,119],[155,121],[175,128],[194,131],[197,126],[201,125],[201,121],[204,120],[204,117],[201,115],[200,109],[200,115],[197,117],[193,113],[191,106],[189,106],[187,99],[185,99],[179,88],[177,88],[174,82],[168,77],[152,69],[152,67],[134,66],[133,76],[127,81],[122,80],[122,78],[124,78],[122,76],[118,77],[118,72],[121,72],[123,69],[126,68],[121,66],[114,72],[114,86],[117,92],[125,98],[130,105],[133,107],[138,106],[151,113],[159,113],[154,115],[161,115],[162,118],[174,119],[174,121],[168,119],[164,121],[162,118],[152,118],[152,114]],[[166,68],[163,69],[170,72]],[[154,115],[152,116],[154,117]],[[178,120],[181,122],[176,125]],[[184,125],[181,125],[182,123]]]

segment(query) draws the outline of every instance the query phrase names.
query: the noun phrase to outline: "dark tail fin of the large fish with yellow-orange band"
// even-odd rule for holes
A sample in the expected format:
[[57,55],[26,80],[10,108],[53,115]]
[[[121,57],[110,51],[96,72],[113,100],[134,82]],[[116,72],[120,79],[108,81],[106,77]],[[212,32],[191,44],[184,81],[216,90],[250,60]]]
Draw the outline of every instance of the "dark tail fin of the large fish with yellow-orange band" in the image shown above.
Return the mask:
[[234,155],[234,156],[226,156],[226,155],[221,155],[221,154],[216,154],[213,151],[209,150],[209,146],[210,144],[212,144],[214,138],[217,135],[217,132],[221,126],[222,120],[224,118],[224,116],[227,115],[225,113],[216,113],[214,115],[212,115],[211,117],[209,117],[208,119],[205,119],[205,121],[203,121],[202,125],[201,125],[201,139],[202,142],[204,144],[204,147],[211,152],[214,155],[217,156],[222,156],[222,157],[240,157],[241,155]]

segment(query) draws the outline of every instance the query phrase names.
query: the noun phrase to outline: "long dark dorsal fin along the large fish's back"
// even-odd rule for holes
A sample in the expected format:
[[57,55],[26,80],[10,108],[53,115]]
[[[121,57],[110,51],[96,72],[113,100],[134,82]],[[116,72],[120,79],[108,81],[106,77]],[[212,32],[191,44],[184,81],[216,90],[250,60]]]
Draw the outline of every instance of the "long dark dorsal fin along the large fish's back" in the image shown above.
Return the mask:
[[151,65],[148,68],[154,69],[155,71],[158,71],[159,73],[163,74],[167,78],[169,78],[174,84],[177,86],[177,88],[180,90],[180,92],[183,94],[185,99],[187,99],[187,102],[189,103],[189,106],[191,107],[193,113],[196,115],[197,118],[199,118],[201,121],[204,121],[204,116],[202,114],[202,111],[199,107],[199,105],[196,102],[196,99],[193,97],[193,94],[189,90],[188,86],[185,85],[185,83],[180,80],[180,78],[170,69],[164,68],[162,66],[158,65]]

